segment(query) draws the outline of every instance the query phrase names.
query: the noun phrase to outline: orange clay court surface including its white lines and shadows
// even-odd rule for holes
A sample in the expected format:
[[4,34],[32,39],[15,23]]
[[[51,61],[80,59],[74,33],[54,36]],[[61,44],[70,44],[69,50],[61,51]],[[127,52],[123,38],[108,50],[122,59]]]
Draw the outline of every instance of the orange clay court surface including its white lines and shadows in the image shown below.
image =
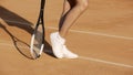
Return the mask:
[[31,60],[29,45],[40,0],[0,0],[0,75],[133,75],[133,0],[90,0],[68,36],[76,60],[50,53],[63,0],[47,0],[45,47]]

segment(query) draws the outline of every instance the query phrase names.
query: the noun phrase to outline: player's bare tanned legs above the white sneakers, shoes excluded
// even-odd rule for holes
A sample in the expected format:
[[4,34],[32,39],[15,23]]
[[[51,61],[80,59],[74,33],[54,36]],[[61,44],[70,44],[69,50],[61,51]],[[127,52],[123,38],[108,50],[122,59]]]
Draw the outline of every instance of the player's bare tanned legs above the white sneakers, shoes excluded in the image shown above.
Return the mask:
[[62,38],[65,38],[69,29],[80,14],[86,9],[88,0],[64,0],[64,8],[62,18],[60,20],[59,33]]

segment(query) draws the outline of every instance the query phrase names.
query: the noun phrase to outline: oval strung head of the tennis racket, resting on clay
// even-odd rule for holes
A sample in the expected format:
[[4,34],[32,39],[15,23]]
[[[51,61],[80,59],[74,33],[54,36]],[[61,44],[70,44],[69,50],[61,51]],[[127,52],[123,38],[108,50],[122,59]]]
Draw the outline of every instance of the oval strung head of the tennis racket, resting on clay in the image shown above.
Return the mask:
[[34,60],[40,57],[43,51],[44,47],[43,35],[44,35],[44,30],[43,26],[40,24],[35,28],[34,33],[32,34],[31,38],[30,52]]

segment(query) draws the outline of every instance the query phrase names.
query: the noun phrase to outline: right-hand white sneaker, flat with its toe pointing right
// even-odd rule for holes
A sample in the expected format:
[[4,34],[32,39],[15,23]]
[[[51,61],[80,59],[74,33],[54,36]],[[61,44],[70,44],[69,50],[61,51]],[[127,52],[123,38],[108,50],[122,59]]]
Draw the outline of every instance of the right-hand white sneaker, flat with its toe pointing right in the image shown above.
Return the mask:
[[63,45],[63,50],[62,51],[63,51],[63,56],[65,58],[78,58],[79,57],[76,54],[74,54],[71,51],[69,51],[65,45]]

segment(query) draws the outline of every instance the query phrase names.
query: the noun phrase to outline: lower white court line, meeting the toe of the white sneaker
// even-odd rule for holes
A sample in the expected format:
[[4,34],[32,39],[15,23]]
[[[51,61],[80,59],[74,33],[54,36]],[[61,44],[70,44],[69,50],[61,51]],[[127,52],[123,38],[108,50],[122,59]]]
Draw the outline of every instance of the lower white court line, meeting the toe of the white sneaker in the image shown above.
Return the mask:
[[[7,43],[0,43],[0,45],[13,47],[13,45],[7,44]],[[19,46],[19,47],[29,49],[29,47],[25,47],[25,46]],[[51,53],[50,51],[47,51],[47,52]],[[108,64],[108,65],[112,65],[112,66],[119,66],[119,67],[133,68],[133,65],[123,64],[123,63],[115,63],[115,62],[110,62],[110,61],[93,58],[93,57],[88,57],[88,56],[80,56],[79,60],[92,61],[92,62],[103,63],[103,64]]]

